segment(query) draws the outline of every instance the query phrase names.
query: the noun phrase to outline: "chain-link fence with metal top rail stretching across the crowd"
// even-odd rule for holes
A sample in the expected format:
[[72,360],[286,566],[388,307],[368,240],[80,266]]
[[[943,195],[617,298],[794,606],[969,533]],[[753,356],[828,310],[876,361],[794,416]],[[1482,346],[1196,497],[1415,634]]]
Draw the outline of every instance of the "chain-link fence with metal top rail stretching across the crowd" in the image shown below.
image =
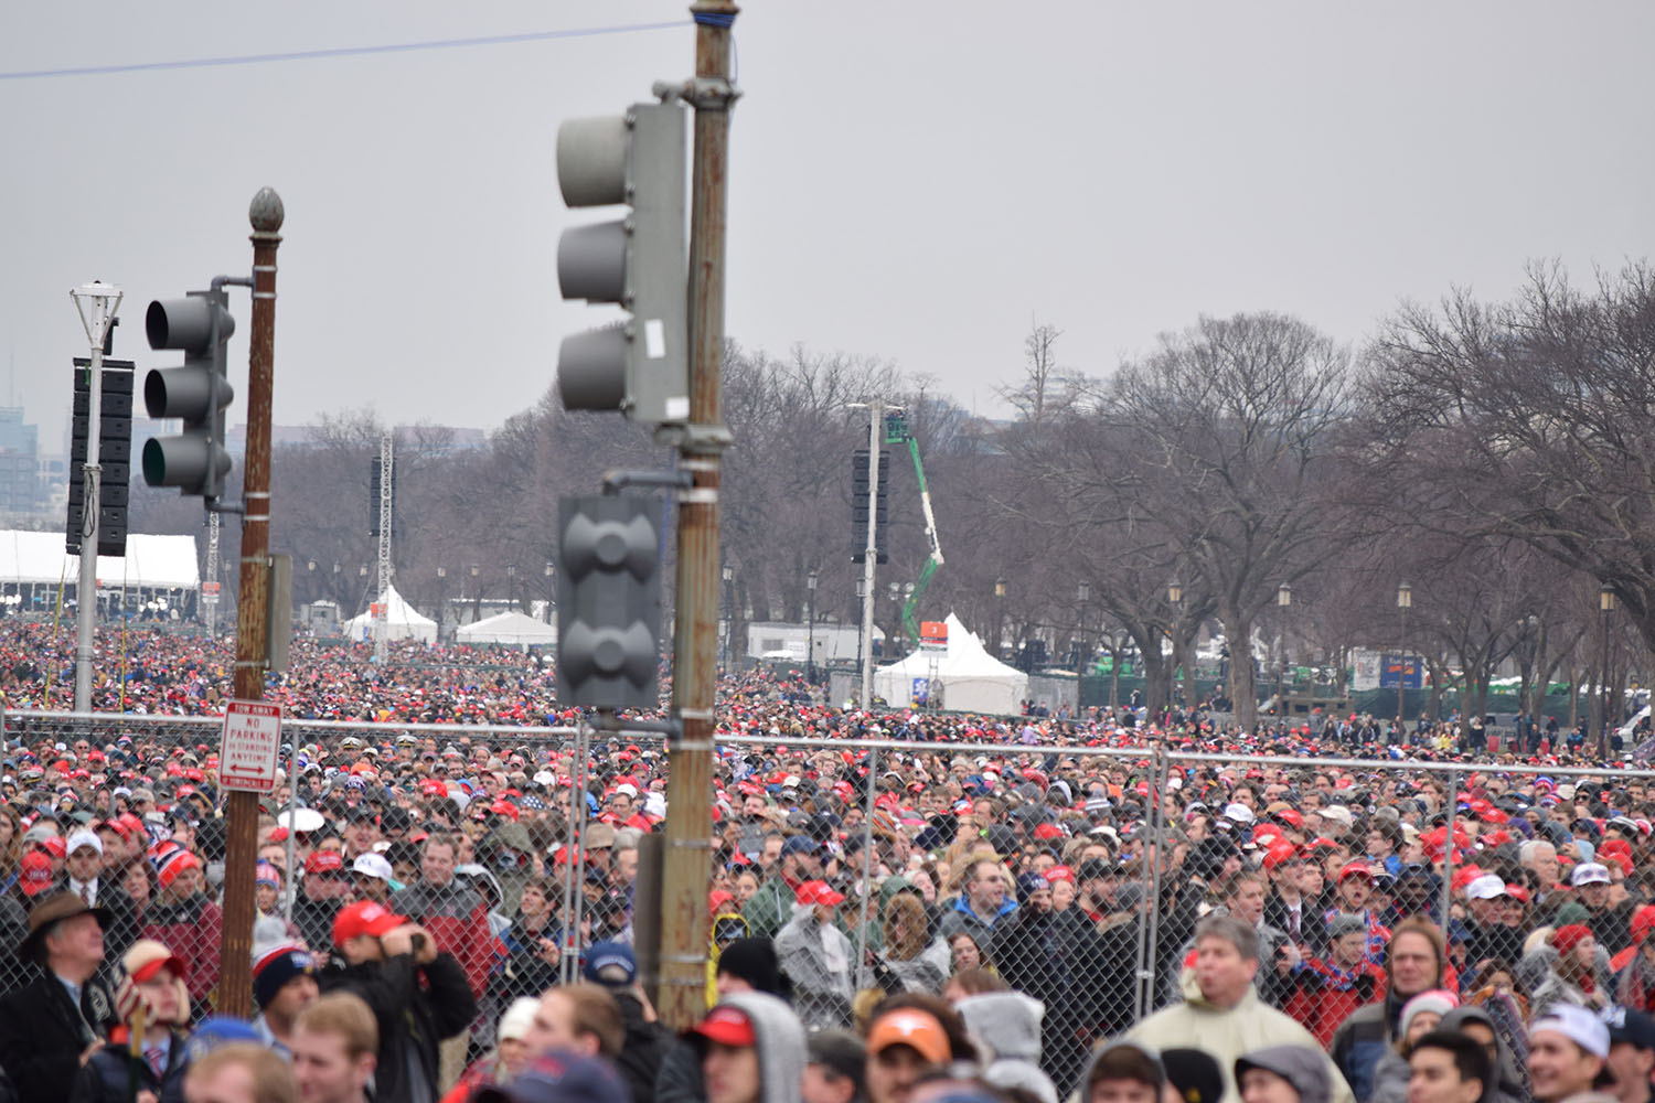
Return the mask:
[[[164,840],[200,858],[197,908],[217,908],[220,721],[3,719],[7,946],[26,933],[28,905],[81,880],[78,870],[96,871],[99,903],[121,911],[111,959],[141,934],[179,938],[180,903],[146,860]],[[662,736],[290,719],[283,741],[286,777],[263,802],[260,824],[263,941],[300,938],[326,951],[339,905],[389,891],[394,906],[397,885],[420,876],[422,838],[452,832],[495,939],[477,982],[475,1045],[485,1047],[511,997],[573,979],[597,941],[634,938],[639,840],[652,824],[664,830]],[[1044,1007],[1034,1019],[1043,1065],[1066,1090],[1099,1037],[1182,999],[1197,923],[1228,911],[1259,933],[1261,999],[1326,1042],[1352,1007],[1384,994],[1385,943],[1397,923],[1418,916],[1440,928],[1446,918],[1458,964],[1476,964],[1458,938],[1465,900],[1455,888],[1463,890],[1468,863],[1533,886],[1516,843],[1534,832],[1518,830],[1494,805],[1542,772],[1552,794],[1571,777],[1594,776],[1231,757],[1190,746],[723,734],[712,794],[708,976],[732,939],[768,938],[811,1027],[852,1025],[885,992],[1005,984]],[[1655,774],[1612,779],[1648,785]],[[300,812],[300,832],[278,830],[295,805],[329,825],[303,830],[314,819]],[[357,814],[364,807],[377,824]],[[127,837],[109,820],[141,824],[142,833]],[[84,847],[66,850],[86,824],[101,825],[96,862]],[[326,848],[343,850],[341,862],[314,857]],[[353,873],[364,852],[386,858],[394,885]],[[1648,867],[1629,862],[1625,873],[1617,881],[1635,886]],[[192,961],[217,976],[212,948],[192,949]],[[0,956],[0,991],[31,976]],[[210,984],[200,987],[205,1009]]]

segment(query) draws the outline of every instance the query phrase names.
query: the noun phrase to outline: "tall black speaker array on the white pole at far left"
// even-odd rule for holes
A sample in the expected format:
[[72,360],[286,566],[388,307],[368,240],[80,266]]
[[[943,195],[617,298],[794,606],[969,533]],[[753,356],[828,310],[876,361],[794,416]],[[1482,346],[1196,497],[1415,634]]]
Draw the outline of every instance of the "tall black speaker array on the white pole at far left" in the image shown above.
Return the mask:
[[[81,521],[86,513],[88,415],[91,365],[74,357],[74,407],[70,417],[70,516],[65,551],[81,554]],[[126,506],[132,483],[132,361],[104,361],[98,399],[98,554],[126,554]]]

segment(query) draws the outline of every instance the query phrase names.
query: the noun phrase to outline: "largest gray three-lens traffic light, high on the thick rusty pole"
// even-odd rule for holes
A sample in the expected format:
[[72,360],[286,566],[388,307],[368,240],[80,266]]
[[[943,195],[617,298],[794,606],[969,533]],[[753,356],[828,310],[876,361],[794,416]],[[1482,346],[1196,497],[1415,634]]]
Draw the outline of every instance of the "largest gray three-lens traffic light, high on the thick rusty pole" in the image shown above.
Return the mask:
[[632,104],[624,116],[558,127],[563,202],[632,208],[558,238],[563,298],[619,303],[629,314],[563,339],[558,390],[566,410],[621,410],[634,422],[690,417],[684,152],[677,104]]

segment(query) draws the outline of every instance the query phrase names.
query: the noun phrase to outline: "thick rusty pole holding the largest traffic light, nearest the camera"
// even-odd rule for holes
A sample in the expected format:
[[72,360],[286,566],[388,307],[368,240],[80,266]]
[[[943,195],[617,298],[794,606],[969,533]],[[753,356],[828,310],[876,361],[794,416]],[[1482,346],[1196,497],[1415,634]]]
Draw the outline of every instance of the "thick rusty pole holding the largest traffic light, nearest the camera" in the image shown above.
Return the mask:
[[667,746],[667,858],[662,873],[660,1017],[682,1029],[707,1012],[707,878],[712,862],[713,703],[718,691],[718,488],[723,425],[725,203],[730,152],[728,0],[697,0],[695,182],[690,195],[690,423],[679,468],[677,622],[672,708],[682,731]]

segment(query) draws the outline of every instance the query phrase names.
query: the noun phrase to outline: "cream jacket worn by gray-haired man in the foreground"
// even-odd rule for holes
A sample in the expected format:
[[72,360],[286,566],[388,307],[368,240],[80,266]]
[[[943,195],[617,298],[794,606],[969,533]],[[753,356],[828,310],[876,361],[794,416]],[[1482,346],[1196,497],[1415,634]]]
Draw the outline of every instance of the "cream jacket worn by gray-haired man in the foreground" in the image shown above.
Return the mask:
[[[1215,1007],[1202,996],[1195,976],[1183,981],[1183,1002],[1157,1010],[1125,1034],[1127,1039],[1157,1050],[1193,1045],[1206,1050],[1225,1073],[1223,1103],[1241,1103],[1235,1082],[1235,1060],[1243,1053],[1271,1045],[1304,1045],[1321,1050],[1316,1037],[1274,1007],[1268,1007],[1251,984],[1235,1007]],[[1332,1103],[1355,1103],[1350,1085],[1327,1058],[1327,1082]],[[1084,1080],[1082,1080],[1084,1083]]]

